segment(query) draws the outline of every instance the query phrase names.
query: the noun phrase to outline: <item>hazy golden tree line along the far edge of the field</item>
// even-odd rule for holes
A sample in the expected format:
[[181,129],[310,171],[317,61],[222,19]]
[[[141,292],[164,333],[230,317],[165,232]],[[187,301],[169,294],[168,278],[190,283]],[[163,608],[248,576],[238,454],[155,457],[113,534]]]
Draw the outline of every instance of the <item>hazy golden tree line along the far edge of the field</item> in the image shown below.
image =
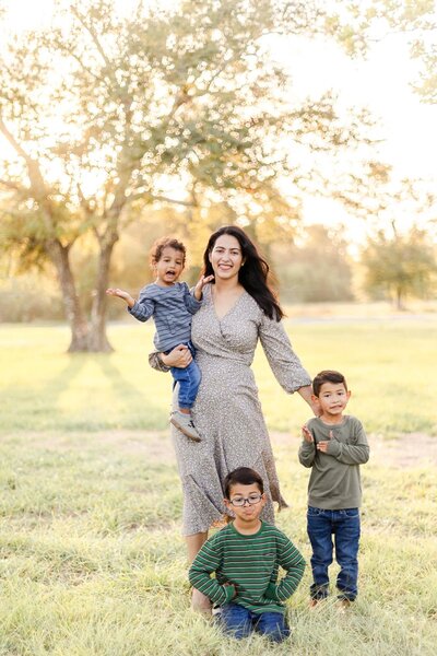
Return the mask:
[[[206,235],[221,225],[217,219],[205,220],[199,229],[196,223],[190,226],[186,213],[168,209],[147,211],[146,218],[123,231],[111,258],[111,284],[138,294],[143,284],[151,282],[149,251],[154,239],[165,234],[185,239],[188,261],[184,279],[194,283]],[[349,254],[341,229],[314,224],[300,229],[294,241],[275,241],[265,247],[261,243],[260,247],[269,251],[282,303],[385,300],[403,309],[410,298],[437,296],[437,249],[430,236],[429,231],[417,226],[403,234],[393,224],[387,233],[376,232],[356,259]],[[98,256],[92,243],[83,242],[72,256],[72,270],[90,316]],[[45,265],[43,269],[17,276],[19,267],[13,256],[2,256],[0,321],[63,319],[62,296],[51,267]],[[108,318],[123,315],[121,304],[109,304]]]

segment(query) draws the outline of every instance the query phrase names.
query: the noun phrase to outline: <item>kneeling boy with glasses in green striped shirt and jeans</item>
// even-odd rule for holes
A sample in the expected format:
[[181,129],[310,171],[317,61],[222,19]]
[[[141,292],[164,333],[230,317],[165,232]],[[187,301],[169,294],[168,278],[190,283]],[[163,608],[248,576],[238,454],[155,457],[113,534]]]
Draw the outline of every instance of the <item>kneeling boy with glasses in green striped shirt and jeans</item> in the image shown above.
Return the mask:
[[[297,588],[305,561],[285,534],[260,519],[265,494],[259,473],[239,467],[227,475],[224,488],[235,519],[203,544],[190,583],[222,607],[226,633],[241,639],[258,631],[281,642],[290,635],[284,601]],[[277,581],[280,566],[285,576]]]

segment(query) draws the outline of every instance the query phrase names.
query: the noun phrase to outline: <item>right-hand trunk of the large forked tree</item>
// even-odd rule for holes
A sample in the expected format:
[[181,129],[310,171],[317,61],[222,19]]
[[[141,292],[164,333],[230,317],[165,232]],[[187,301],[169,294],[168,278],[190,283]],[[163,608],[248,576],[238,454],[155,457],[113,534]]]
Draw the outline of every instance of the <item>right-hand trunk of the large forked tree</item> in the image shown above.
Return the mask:
[[109,266],[114,245],[118,236],[114,235],[101,246],[98,258],[97,280],[93,292],[91,309],[91,329],[88,333],[88,351],[110,353],[114,351],[106,337],[106,290],[109,283]]

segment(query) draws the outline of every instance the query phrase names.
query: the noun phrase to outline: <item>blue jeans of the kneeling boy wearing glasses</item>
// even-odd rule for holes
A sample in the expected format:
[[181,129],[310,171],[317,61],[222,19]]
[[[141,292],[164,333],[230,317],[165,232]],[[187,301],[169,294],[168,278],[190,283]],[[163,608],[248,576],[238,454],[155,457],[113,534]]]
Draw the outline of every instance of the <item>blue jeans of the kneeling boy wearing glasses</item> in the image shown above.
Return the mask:
[[258,631],[273,642],[282,642],[290,635],[285,614],[282,612],[252,612],[239,604],[225,604],[218,616],[225,633],[231,633],[237,640],[247,637],[252,631]]

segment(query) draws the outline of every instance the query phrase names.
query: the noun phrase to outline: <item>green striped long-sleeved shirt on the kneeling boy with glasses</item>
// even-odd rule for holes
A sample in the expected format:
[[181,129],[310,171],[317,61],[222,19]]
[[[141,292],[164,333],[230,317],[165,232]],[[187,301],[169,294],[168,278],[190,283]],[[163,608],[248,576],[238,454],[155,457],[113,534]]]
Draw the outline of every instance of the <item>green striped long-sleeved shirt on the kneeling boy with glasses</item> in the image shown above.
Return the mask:
[[[285,576],[277,582],[280,566]],[[300,552],[275,526],[262,522],[257,534],[247,536],[228,524],[203,544],[189,578],[214,604],[232,600],[253,612],[284,612],[283,601],[297,588],[304,569]]]

